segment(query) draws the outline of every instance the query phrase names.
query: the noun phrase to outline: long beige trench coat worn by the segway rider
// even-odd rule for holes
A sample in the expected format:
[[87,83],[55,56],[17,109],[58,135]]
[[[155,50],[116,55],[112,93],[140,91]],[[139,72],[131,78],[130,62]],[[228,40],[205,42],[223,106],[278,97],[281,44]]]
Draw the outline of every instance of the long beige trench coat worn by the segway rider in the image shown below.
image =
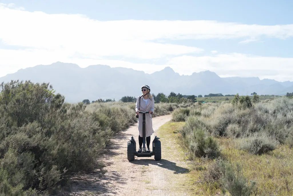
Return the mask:
[[[149,98],[147,105],[144,102],[143,97],[140,98],[140,108],[139,108],[139,97],[137,97],[136,105],[135,105],[135,112],[140,111],[140,112],[154,112],[155,108],[155,101],[154,98]],[[139,136],[142,137],[142,115],[143,114],[138,114],[138,131],[139,131]],[[152,117],[151,114],[146,114],[146,137],[151,136],[154,133],[153,129],[153,122],[152,122]]]

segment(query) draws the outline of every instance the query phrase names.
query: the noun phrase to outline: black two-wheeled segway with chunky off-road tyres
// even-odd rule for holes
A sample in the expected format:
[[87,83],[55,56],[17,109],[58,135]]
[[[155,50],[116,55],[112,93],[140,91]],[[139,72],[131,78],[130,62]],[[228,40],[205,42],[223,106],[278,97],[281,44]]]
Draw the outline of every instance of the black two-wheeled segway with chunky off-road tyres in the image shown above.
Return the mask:
[[155,160],[161,160],[161,141],[159,140],[160,138],[155,136],[153,140],[153,151],[146,151],[146,114],[149,112],[139,112],[142,113],[142,143],[143,143],[143,148],[142,152],[137,152],[136,151],[136,141],[134,137],[132,136],[128,141],[127,141],[127,159],[129,161],[133,161],[135,156],[137,157],[151,157],[154,156]]

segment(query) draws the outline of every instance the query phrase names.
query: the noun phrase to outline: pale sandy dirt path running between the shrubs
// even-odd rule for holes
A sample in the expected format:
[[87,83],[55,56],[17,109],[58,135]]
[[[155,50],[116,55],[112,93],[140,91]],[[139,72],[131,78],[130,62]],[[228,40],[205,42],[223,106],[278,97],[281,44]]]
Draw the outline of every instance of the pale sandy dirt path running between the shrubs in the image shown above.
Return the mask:
[[[155,133],[151,136],[151,142],[157,135],[158,128],[171,118],[171,115],[153,118]],[[174,183],[178,183],[179,179],[184,180],[177,174],[185,173],[187,166],[183,161],[174,160],[172,153],[171,155],[168,153],[168,150],[172,149],[168,138],[160,139],[162,145],[160,161],[154,160],[154,156],[152,156],[135,157],[134,161],[129,162],[127,160],[127,141],[131,136],[134,136],[137,141],[138,149],[138,130],[137,124],[134,124],[127,130],[116,134],[111,140],[110,149],[103,157],[106,167],[102,171],[74,177],[74,184],[71,185],[70,192],[63,192],[61,195],[178,195],[178,192],[172,187]],[[158,136],[160,137],[160,135]],[[174,175],[177,176],[174,177]],[[179,195],[186,194],[180,193]]]

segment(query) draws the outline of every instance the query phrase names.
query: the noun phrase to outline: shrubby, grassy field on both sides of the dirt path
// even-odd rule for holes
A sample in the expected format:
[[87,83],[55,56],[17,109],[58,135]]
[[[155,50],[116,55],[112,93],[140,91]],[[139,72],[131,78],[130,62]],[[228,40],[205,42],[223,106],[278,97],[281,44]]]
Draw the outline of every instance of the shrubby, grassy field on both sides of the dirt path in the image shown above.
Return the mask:
[[[292,195],[293,99],[226,98],[155,104],[154,118],[172,115],[173,122],[159,131],[164,150],[181,152],[180,146],[185,155],[171,158],[191,162],[187,182],[182,178],[173,188],[193,195]],[[137,122],[133,102],[86,105],[64,99],[45,83],[0,85],[0,195],[58,192],[72,176],[103,168],[110,139],[121,132],[125,138],[125,129]],[[182,169],[171,158],[161,162],[171,165],[164,169]],[[178,176],[172,174],[174,180]]]

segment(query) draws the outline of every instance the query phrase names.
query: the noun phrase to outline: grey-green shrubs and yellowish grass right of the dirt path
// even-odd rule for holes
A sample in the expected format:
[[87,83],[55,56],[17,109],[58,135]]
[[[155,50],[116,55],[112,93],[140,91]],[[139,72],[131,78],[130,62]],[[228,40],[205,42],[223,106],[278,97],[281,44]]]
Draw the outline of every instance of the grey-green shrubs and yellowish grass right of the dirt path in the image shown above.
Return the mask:
[[199,195],[293,193],[293,100],[236,94],[178,108],[178,143]]

